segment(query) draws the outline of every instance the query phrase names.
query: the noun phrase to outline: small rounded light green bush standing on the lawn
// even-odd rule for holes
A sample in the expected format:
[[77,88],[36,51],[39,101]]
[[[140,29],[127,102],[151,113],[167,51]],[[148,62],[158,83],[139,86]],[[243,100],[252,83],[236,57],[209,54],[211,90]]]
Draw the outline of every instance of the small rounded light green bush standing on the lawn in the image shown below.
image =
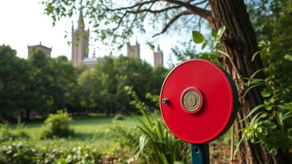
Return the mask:
[[69,128],[72,117],[69,117],[67,110],[59,110],[56,114],[49,114],[44,121],[46,124],[41,131],[41,138],[68,137],[74,134]]

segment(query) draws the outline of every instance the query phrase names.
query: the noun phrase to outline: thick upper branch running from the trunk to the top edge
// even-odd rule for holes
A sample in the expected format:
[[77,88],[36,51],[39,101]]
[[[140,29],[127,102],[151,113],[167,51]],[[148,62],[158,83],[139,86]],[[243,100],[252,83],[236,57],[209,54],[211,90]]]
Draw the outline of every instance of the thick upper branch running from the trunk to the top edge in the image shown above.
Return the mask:
[[179,6],[184,6],[185,8],[192,11],[193,14],[199,15],[199,16],[205,18],[206,20],[208,20],[209,22],[211,22],[211,11],[199,8],[195,5],[192,5],[190,3],[183,2],[183,1],[178,1],[178,0],[165,0],[165,1],[172,3],[172,4],[177,4]]

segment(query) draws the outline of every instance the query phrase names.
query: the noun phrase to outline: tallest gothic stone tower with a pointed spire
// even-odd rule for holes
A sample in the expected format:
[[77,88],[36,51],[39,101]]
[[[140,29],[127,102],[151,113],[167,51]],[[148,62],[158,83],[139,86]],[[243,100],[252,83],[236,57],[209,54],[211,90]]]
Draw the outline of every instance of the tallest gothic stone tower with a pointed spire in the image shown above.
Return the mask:
[[89,38],[89,28],[87,31],[84,29],[82,7],[80,7],[78,27],[75,31],[72,25],[71,62],[73,66],[77,66],[78,64],[81,64],[84,58],[88,58],[88,53],[86,52],[88,48],[88,38]]

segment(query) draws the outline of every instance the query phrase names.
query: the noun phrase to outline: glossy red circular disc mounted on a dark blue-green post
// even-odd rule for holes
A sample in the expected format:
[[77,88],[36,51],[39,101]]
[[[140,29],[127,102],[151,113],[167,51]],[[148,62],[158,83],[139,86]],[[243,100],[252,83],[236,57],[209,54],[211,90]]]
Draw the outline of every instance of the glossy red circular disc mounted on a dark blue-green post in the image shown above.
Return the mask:
[[[190,87],[201,94],[196,112],[187,112],[182,104],[182,96]],[[166,126],[188,143],[202,144],[220,137],[235,119],[230,81],[219,66],[208,60],[191,59],[173,68],[163,83],[160,102],[164,98],[168,103],[160,103],[160,109]]]

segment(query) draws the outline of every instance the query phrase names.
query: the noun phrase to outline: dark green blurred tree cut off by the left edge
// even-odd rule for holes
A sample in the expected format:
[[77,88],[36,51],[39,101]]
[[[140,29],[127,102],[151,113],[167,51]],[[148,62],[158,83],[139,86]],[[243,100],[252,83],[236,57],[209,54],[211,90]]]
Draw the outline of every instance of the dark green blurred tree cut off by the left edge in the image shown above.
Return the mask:
[[7,119],[19,109],[26,63],[16,57],[16,50],[4,44],[0,46],[0,58],[0,114],[1,118]]

